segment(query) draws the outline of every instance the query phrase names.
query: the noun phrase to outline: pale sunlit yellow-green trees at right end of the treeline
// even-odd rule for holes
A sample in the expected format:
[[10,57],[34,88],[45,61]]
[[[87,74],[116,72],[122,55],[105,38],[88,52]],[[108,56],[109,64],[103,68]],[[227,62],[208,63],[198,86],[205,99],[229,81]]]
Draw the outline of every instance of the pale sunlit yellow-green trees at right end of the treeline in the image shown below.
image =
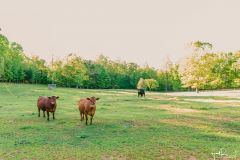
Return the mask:
[[229,89],[240,87],[240,51],[211,52],[212,44],[192,42],[192,54],[179,71],[183,87]]

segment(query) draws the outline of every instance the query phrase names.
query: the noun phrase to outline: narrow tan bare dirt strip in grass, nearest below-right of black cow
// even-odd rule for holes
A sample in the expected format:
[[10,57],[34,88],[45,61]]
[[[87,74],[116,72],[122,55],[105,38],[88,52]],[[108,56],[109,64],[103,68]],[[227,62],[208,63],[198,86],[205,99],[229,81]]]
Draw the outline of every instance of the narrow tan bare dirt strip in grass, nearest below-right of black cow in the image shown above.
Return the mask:
[[171,105],[158,105],[158,106],[147,106],[148,108],[153,109],[164,109],[173,113],[193,113],[193,112],[200,112],[199,110],[189,109],[189,108],[177,108]]

